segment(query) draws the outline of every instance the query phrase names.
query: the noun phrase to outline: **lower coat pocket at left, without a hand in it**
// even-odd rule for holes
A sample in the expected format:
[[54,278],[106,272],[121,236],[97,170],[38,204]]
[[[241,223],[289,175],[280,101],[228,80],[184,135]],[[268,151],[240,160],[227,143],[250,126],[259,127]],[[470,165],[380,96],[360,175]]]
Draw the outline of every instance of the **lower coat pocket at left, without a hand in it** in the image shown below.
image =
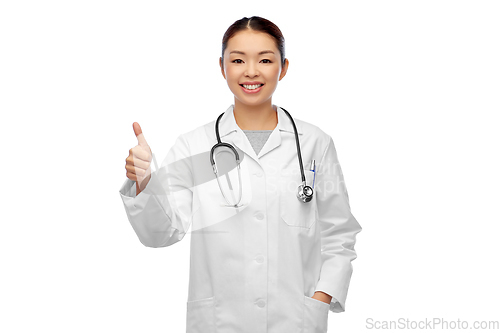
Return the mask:
[[215,333],[214,297],[187,302],[187,333]]

